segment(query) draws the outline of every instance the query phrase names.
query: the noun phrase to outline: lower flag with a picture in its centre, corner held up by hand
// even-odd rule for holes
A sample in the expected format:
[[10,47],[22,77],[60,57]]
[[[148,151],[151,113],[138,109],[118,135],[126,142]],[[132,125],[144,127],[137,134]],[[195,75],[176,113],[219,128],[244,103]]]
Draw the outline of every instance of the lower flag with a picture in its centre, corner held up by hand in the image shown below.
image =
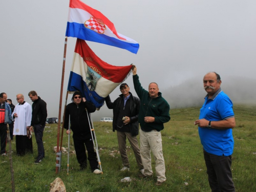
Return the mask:
[[112,66],[95,55],[86,41],[77,39],[68,91],[80,91],[86,100],[92,102],[99,109],[104,103],[104,98],[131,72],[132,65]]

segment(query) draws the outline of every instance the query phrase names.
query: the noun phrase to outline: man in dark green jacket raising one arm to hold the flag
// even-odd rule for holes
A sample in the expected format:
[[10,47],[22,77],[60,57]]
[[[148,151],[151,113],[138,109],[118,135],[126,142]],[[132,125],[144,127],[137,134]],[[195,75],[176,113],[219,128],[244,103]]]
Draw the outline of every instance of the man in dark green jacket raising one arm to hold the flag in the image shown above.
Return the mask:
[[170,120],[170,106],[159,92],[157,83],[152,82],[148,86],[148,91],[141,87],[137,68],[133,66],[134,89],[140,98],[140,155],[144,166],[143,177],[153,175],[151,166],[151,151],[156,161],[156,185],[165,182],[165,164],[162,150],[162,137],[160,131],[163,130],[163,123]]

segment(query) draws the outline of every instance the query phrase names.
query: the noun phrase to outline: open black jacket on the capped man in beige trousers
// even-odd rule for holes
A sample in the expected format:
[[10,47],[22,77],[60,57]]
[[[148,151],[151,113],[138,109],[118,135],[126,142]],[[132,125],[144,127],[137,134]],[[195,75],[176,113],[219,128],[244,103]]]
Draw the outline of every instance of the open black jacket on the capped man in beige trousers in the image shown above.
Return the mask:
[[[134,97],[131,92],[129,93],[131,95],[130,96],[131,122],[129,123],[130,132],[132,136],[137,136],[139,134],[138,115],[139,115],[139,109],[140,109],[140,99],[138,97]],[[119,95],[119,97],[114,102],[111,102],[110,96],[105,98],[106,106],[108,106],[109,109],[113,109],[113,132],[115,132],[115,129],[116,129],[118,112],[119,112],[122,98],[123,98],[122,94]]]

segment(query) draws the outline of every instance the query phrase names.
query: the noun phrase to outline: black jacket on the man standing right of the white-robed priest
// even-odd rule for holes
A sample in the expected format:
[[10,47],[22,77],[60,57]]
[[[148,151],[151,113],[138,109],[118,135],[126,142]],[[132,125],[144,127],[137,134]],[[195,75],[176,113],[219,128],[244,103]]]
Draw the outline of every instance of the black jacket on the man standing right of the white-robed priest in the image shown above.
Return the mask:
[[32,104],[32,120],[31,126],[35,124],[40,124],[44,126],[46,124],[47,118],[47,108],[46,102],[42,100],[40,97],[36,99]]

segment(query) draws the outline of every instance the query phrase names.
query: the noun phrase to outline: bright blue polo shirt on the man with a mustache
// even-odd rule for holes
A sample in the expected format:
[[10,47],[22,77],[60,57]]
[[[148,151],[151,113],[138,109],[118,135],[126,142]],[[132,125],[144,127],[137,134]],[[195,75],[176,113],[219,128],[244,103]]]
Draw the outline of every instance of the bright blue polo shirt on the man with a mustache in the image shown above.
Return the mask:
[[[199,119],[221,121],[234,117],[233,103],[221,88],[210,98],[204,98]],[[207,127],[198,127],[199,136],[204,150],[218,156],[229,156],[233,153],[234,140],[232,129],[217,130]]]

